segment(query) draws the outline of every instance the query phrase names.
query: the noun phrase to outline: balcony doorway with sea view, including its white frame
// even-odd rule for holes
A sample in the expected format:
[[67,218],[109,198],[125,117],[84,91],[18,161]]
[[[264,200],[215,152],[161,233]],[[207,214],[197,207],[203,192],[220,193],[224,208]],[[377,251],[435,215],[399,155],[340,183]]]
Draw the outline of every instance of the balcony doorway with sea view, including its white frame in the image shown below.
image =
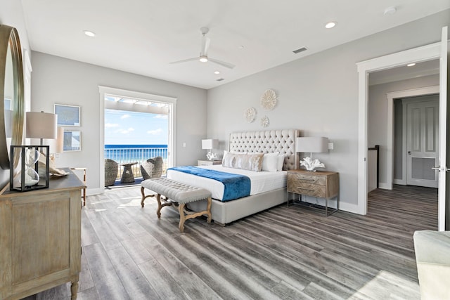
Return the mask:
[[[110,174],[114,174],[118,182],[123,177],[123,183],[135,184],[135,179],[141,177],[140,166],[147,159],[162,157],[164,170],[174,166],[176,98],[104,86],[99,89],[100,136],[105,142],[101,143],[100,153],[101,186],[105,186],[105,174],[108,182]],[[115,162],[114,168],[110,160]]]

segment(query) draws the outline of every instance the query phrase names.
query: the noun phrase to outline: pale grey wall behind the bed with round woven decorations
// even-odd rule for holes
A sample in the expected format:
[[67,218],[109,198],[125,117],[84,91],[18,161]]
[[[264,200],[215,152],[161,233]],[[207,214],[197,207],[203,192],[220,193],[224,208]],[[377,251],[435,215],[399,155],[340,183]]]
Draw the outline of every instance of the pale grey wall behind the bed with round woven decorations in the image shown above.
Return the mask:
[[[437,13],[385,32],[373,34],[292,63],[210,89],[208,136],[226,148],[231,131],[259,130],[267,115],[268,129],[297,128],[303,136],[326,136],[335,150],[318,154],[326,169],[340,172],[341,208],[356,211],[358,158],[358,72],[356,63],[440,40],[450,11]],[[307,45],[305,45],[307,46]],[[259,97],[266,89],[278,94],[275,109],[266,112]],[[257,108],[257,121],[248,124],[244,110]]]

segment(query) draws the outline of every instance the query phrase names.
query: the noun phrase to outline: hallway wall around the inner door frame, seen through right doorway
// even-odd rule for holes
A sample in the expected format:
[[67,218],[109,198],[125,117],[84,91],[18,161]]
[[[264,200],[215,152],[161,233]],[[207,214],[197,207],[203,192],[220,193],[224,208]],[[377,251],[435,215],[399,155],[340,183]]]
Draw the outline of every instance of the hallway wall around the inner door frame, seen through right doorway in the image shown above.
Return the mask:
[[[369,74],[370,77],[370,74]],[[387,93],[439,86],[439,74],[369,86],[368,145],[380,145],[380,185],[387,181]],[[401,164],[400,164],[401,165]]]

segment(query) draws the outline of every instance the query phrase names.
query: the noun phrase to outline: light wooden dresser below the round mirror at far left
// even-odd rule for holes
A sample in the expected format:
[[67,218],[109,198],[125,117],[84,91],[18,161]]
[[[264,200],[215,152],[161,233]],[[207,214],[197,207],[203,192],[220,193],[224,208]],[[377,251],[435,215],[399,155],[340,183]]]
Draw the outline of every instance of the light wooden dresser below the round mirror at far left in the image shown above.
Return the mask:
[[81,190],[70,174],[48,189],[0,195],[0,299],[21,299],[72,282],[81,270]]

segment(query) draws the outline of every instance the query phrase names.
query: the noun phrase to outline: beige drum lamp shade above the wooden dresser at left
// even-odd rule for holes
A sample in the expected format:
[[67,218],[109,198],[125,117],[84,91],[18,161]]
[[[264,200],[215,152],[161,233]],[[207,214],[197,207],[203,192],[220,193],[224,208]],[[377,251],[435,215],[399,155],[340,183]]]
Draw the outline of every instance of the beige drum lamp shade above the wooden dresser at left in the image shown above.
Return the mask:
[[48,112],[27,112],[26,138],[56,138],[57,115]]

